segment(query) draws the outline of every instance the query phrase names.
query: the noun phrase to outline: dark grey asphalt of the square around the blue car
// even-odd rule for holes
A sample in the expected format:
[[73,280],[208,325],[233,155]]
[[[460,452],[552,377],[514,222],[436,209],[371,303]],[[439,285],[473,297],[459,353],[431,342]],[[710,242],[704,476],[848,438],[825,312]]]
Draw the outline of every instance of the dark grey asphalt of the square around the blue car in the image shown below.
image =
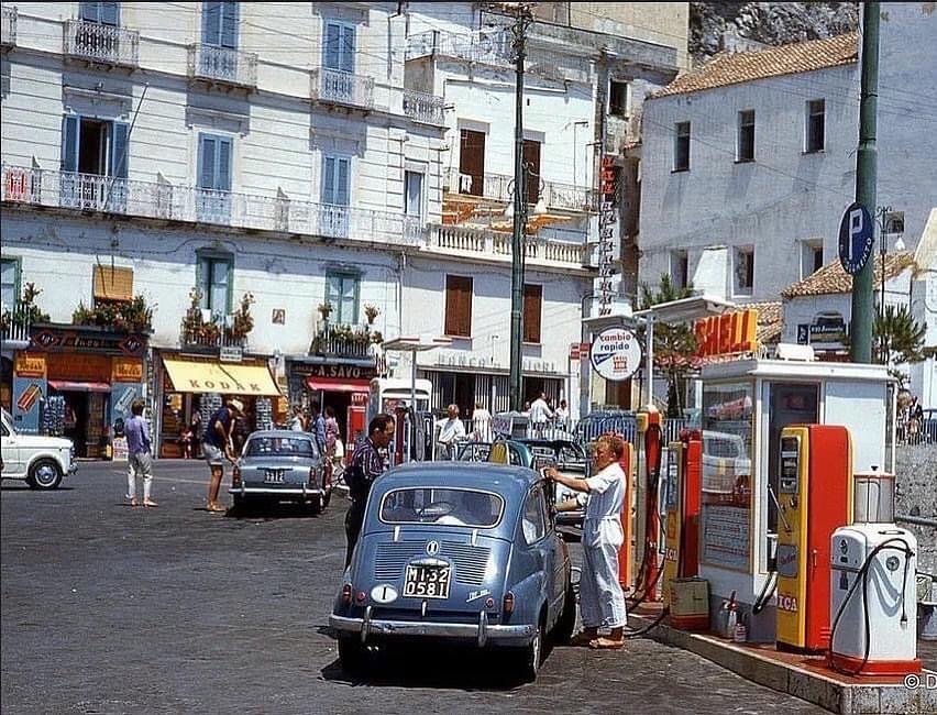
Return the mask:
[[328,628],[343,498],[318,517],[213,515],[203,463],[161,461],[155,474],[153,509],[125,504],[114,463],[82,462],[55,492],[2,482],[4,715],[825,712],[647,639],[555,648],[526,685],[458,650],[351,682]]

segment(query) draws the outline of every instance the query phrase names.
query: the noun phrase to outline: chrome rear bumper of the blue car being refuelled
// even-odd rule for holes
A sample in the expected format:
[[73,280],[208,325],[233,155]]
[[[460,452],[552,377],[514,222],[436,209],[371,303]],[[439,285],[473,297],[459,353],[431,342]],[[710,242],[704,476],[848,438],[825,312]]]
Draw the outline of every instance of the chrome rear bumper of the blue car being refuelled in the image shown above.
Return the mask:
[[329,625],[341,632],[357,634],[362,642],[372,636],[378,637],[426,637],[461,641],[474,641],[479,648],[488,644],[526,646],[533,638],[532,625],[489,626],[483,610],[477,624],[427,623],[419,620],[381,620],[371,617],[371,607],[365,608],[363,618],[329,616]]

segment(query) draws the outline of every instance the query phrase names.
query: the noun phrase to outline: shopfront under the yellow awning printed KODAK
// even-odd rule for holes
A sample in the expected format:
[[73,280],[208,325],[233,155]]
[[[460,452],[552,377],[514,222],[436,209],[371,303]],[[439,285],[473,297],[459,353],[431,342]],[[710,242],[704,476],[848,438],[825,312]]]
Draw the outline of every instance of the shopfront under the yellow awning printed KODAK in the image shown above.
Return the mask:
[[[216,356],[158,351],[154,363],[155,405],[161,406],[155,410],[154,431],[162,458],[197,458],[205,426],[223,398],[236,397],[244,404],[245,419],[239,421],[235,449],[252,431],[271,429],[286,419],[286,398],[264,358],[221,362]],[[192,433],[188,451],[187,431]]]

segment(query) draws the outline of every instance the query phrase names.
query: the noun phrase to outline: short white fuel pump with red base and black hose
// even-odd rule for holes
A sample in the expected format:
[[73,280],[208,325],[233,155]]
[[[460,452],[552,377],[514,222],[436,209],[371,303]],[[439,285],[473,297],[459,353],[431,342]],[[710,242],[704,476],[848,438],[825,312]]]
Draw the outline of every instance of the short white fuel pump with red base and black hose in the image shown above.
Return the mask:
[[894,524],[894,475],[853,480],[851,526],[830,540],[829,664],[853,675],[921,671],[917,659],[917,540]]

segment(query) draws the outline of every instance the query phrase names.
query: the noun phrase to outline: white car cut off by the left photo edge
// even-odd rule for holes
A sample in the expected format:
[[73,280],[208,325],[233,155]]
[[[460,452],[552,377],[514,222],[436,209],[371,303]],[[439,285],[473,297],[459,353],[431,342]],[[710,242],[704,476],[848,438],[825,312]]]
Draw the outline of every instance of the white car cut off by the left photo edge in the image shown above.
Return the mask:
[[3,471],[0,479],[25,480],[34,490],[54,490],[66,474],[78,469],[71,440],[42,435],[23,435],[13,428],[13,418],[2,410]]

